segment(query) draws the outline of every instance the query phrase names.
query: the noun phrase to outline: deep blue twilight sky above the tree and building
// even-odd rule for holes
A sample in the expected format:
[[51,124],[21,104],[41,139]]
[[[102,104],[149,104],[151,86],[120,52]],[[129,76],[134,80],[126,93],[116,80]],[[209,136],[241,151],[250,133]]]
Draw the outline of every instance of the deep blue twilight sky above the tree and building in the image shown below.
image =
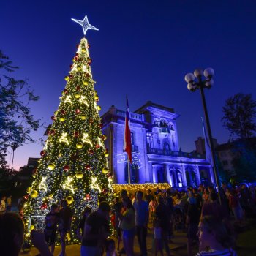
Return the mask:
[[[65,75],[83,37],[83,20],[99,31],[86,34],[91,69],[97,81],[100,114],[110,105],[130,111],[151,100],[174,108],[182,151],[192,151],[203,136],[199,91],[187,90],[184,75],[213,67],[214,87],[206,91],[211,129],[219,143],[225,99],[238,92],[256,99],[256,1],[252,0],[45,0],[1,1],[0,49],[20,67],[41,99],[31,105],[37,118],[51,124],[65,86]],[[40,137],[44,129],[34,135]],[[15,167],[39,157],[42,146],[18,148]]]

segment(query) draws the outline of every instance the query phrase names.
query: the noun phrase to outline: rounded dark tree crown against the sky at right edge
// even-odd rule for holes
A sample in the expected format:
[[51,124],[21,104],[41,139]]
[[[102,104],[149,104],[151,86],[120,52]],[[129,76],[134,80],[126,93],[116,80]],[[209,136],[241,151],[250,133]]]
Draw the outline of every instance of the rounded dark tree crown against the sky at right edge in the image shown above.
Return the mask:
[[223,126],[230,131],[230,139],[251,138],[256,131],[256,101],[252,94],[235,94],[226,100],[222,108]]

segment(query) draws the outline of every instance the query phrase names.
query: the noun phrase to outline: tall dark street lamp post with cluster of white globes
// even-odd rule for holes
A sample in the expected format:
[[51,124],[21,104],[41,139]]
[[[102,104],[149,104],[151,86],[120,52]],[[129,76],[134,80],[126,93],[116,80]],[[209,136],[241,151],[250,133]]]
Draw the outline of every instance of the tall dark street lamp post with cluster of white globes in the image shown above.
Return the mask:
[[[203,80],[203,75],[206,78],[205,80]],[[200,90],[200,94],[201,94],[201,98],[202,98],[202,103],[203,103],[203,112],[205,115],[205,119],[206,119],[206,129],[208,132],[208,138],[209,138],[209,144],[210,144],[210,148],[211,148],[211,159],[212,159],[212,164],[213,164],[213,168],[214,168],[214,178],[217,184],[217,188],[218,188],[218,195],[219,195],[219,203],[223,204],[223,200],[222,200],[222,188],[220,187],[219,184],[219,176],[218,176],[218,171],[217,171],[217,167],[216,167],[216,161],[215,161],[215,151],[214,151],[214,144],[212,141],[212,136],[211,136],[211,126],[210,126],[210,121],[208,118],[208,111],[206,108],[206,98],[205,98],[205,94],[203,89],[207,88],[210,89],[211,86],[214,84],[214,80],[212,79],[214,75],[214,69],[212,69],[211,67],[205,69],[204,71],[202,69],[195,69],[194,74],[192,73],[188,73],[187,75],[185,75],[185,81],[188,83],[187,84],[187,89],[189,89],[189,91],[196,91],[197,89]],[[195,80],[195,78],[197,78],[197,80]]]

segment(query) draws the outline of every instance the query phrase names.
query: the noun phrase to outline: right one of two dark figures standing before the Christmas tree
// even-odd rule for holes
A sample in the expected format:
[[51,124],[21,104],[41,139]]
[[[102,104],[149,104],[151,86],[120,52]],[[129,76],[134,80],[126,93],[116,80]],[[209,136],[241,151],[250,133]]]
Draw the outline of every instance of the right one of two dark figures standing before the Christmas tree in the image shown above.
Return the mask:
[[59,232],[61,234],[61,254],[64,256],[66,253],[66,236],[70,231],[72,222],[72,210],[67,204],[67,200],[61,200],[61,211],[59,212]]

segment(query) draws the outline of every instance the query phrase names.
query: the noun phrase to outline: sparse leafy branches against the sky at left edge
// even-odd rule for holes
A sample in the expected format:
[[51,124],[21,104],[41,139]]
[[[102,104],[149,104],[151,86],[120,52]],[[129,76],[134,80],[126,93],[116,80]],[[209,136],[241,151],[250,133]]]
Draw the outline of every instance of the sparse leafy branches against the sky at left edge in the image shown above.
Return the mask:
[[31,114],[29,103],[39,99],[34,95],[26,80],[16,80],[8,76],[18,67],[0,50],[0,69],[7,74],[0,76],[0,166],[6,165],[8,148],[14,151],[26,143],[40,143],[34,140],[31,131],[42,126],[40,119]]

